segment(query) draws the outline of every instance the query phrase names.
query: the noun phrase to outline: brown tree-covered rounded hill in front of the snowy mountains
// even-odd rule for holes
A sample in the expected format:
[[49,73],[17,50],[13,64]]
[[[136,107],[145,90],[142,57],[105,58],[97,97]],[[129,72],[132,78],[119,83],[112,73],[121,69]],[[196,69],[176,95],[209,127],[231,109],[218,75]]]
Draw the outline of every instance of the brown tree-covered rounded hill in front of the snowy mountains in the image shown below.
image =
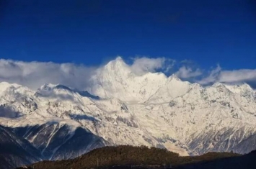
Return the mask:
[[227,157],[239,157],[229,152],[208,152],[195,157],[180,157],[175,152],[169,152],[155,147],[102,147],[92,150],[73,160],[43,161],[35,163],[30,168],[61,169],[61,168],[161,168],[162,165],[173,167],[187,163],[199,163]]

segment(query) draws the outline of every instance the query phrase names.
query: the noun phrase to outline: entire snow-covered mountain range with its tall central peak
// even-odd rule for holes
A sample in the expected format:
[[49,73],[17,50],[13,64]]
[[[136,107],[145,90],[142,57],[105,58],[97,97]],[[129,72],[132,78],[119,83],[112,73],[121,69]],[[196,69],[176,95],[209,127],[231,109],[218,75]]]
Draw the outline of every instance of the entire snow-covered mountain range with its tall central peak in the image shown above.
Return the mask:
[[256,93],[247,84],[203,87],[175,75],[138,76],[121,58],[98,69],[91,83],[88,91],[60,84],[32,91],[2,82],[0,125],[48,160],[104,145],[164,147],[180,155],[256,149]]

